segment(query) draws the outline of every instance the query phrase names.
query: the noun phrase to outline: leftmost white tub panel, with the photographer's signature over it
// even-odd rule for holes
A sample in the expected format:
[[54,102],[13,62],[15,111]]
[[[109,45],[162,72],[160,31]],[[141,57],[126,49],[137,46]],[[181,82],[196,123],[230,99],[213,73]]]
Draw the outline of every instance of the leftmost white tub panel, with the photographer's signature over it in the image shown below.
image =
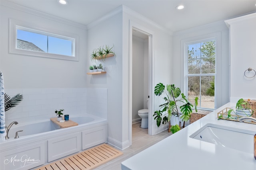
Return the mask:
[[28,170],[45,163],[44,142],[1,152],[1,170]]

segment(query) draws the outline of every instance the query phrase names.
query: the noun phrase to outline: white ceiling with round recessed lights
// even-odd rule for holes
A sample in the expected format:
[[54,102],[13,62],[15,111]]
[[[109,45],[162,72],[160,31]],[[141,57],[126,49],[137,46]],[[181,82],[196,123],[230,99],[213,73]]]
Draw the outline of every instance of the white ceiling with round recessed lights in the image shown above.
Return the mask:
[[[0,0],[4,1],[4,0]],[[256,0],[8,0],[87,25],[124,5],[175,32],[256,12]],[[176,6],[184,4],[183,10]]]

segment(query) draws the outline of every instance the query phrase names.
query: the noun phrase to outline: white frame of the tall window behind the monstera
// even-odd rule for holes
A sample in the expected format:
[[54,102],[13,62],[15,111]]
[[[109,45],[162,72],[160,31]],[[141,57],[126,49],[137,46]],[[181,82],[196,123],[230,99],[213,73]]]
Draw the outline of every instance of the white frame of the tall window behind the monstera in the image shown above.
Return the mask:
[[[206,41],[212,41],[215,40],[216,44],[215,44],[215,50],[216,50],[216,58],[215,58],[215,73],[210,73],[210,74],[196,74],[195,76],[214,76],[214,108],[200,108],[200,109],[206,109],[206,110],[214,110],[216,109],[216,106],[218,106],[217,101],[218,99],[221,98],[221,76],[220,76],[220,71],[221,70],[221,64],[220,62],[220,54],[221,54],[221,36],[220,36],[220,32],[217,33],[212,33],[212,34],[208,34],[208,35],[201,35],[198,37],[192,37],[189,39],[183,39],[181,41],[181,47],[182,47],[182,51],[181,51],[181,56],[182,60],[183,60],[183,64],[182,67],[184,68],[183,70],[183,75],[184,75],[184,79],[181,80],[181,84],[184,84],[184,94],[185,96],[188,96],[188,70],[187,70],[187,56],[186,56],[186,50],[188,47],[188,44],[193,44],[193,43],[198,43],[198,42],[206,42]],[[220,99],[221,101],[221,99]]]

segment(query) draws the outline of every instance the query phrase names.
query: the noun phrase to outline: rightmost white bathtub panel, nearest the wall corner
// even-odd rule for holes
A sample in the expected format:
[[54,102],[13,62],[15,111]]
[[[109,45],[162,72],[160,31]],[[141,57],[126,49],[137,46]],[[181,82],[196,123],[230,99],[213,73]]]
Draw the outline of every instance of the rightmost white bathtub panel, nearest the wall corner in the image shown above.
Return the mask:
[[106,126],[82,131],[82,150],[106,142]]

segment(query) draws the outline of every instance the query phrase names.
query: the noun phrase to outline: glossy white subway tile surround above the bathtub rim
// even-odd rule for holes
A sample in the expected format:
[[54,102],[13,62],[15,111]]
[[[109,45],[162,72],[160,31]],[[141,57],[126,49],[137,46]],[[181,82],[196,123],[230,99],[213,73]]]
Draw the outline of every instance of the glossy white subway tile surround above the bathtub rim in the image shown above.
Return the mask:
[[56,117],[55,109],[64,109],[64,114],[84,113],[107,118],[107,89],[102,88],[44,88],[44,89],[5,89],[14,96],[23,95],[16,107],[5,112],[6,125],[12,121],[25,123]]

